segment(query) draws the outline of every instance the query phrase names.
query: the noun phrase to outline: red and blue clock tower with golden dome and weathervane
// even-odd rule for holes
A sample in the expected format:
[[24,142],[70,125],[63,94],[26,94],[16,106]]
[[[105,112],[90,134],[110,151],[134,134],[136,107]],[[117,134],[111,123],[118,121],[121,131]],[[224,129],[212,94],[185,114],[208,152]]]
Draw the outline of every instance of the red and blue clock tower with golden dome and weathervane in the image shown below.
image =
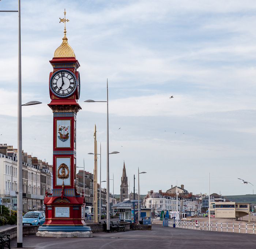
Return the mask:
[[[84,223],[84,193],[76,191],[76,114],[81,109],[79,65],[66,37],[66,22],[61,45],[50,61],[48,106],[53,111],[53,191],[44,198],[45,223],[37,236],[91,237],[90,227]],[[70,236],[67,236],[67,232]],[[79,233],[79,236],[78,236]],[[53,236],[54,237],[54,236]]]

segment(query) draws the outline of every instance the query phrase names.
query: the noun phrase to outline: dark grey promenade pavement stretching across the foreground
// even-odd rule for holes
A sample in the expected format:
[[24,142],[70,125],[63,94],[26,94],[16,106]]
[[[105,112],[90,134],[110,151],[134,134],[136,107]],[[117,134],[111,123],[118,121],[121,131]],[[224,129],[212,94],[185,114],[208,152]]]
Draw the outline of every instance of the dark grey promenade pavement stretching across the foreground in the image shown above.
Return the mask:
[[[11,240],[16,248],[16,238]],[[152,225],[152,230],[93,233],[93,238],[49,238],[35,235],[23,236],[23,248],[65,249],[165,249],[165,248],[256,248],[255,234],[224,233],[189,230]]]

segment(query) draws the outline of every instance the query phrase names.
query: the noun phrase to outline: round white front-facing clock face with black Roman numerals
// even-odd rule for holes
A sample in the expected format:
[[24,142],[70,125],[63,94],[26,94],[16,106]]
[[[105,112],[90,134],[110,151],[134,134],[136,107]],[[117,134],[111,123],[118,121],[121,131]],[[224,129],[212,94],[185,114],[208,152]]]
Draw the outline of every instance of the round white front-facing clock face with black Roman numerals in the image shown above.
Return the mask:
[[50,89],[59,97],[68,97],[76,90],[76,77],[69,70],[58,70],[50,78]]

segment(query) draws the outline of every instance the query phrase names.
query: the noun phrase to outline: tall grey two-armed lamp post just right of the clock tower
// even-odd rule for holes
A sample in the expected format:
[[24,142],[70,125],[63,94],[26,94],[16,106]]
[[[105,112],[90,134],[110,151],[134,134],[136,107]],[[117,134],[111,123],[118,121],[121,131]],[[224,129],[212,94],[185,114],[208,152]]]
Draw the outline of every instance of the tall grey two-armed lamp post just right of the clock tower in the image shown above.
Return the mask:
[[108,102],[108,80],[107,80],[107,101],[94,101],[94,100],[85,100],[84,102],[106,102],[107,103],[107,232],[110,232],[110,223],[109,223],[109,154],[119,153],[117,151],[109,153],[109,102]]

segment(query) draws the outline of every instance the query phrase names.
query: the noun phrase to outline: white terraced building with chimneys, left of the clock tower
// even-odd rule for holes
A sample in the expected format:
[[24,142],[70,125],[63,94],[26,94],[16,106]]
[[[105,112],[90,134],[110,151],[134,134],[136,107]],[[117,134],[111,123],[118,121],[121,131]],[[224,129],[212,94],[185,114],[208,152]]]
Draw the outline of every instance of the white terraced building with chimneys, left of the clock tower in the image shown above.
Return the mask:
[[[50,192],[52,189],[52,173],[40,165],[41,161],[38,161],[37,157],[27,156],[26,153],[22,153],[22,161],[23,212],[43,210],[45,193],[41,193],[42,184]],[[44,162],[44,164],[46,163]],[[42,174],[47,175],[46,179],[49,179],[47,184],[42,183]],[[17,209],[17,178],[17,149],[13,149],[12,146],[7,146],[7,144],[0,144],[0,197],[11,198],[12,210]]]

